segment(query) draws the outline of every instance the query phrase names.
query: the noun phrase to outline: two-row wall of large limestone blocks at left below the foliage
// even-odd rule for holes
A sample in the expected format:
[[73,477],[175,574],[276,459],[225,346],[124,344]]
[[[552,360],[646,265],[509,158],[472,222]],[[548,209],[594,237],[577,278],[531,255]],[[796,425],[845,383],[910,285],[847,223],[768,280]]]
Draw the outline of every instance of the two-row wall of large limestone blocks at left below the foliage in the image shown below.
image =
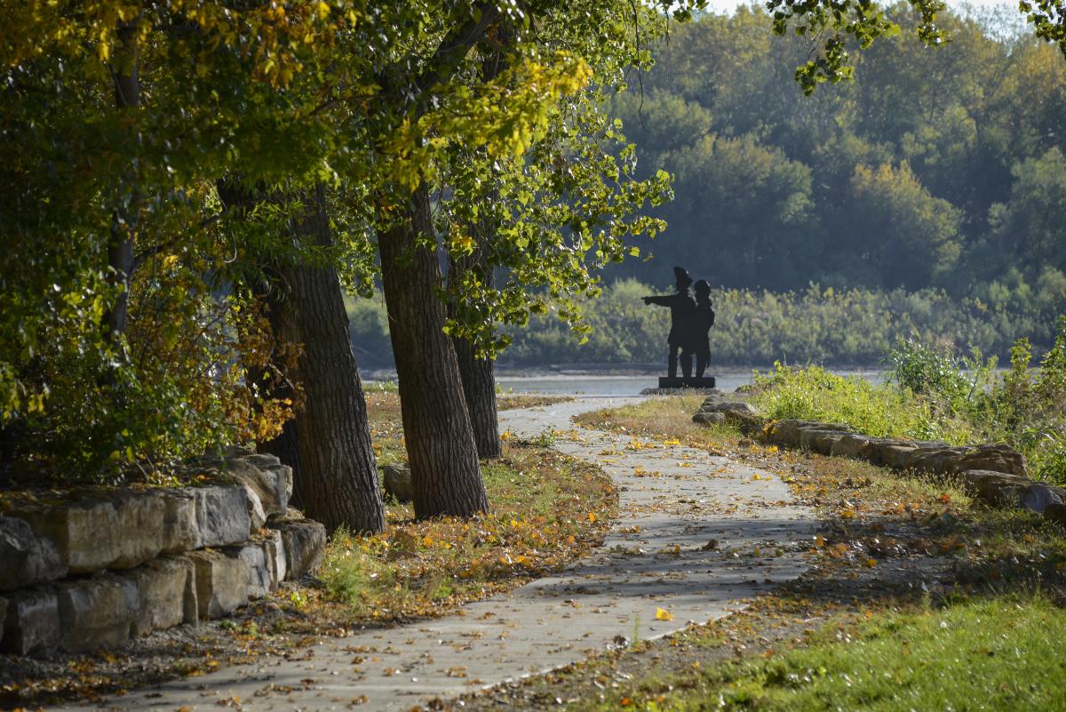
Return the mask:
[[289,507],[292,470],[246,451],[231,484],[98,489],[0,512],[0,651],[122,645],[232,613],[313,570],[325,528]]

